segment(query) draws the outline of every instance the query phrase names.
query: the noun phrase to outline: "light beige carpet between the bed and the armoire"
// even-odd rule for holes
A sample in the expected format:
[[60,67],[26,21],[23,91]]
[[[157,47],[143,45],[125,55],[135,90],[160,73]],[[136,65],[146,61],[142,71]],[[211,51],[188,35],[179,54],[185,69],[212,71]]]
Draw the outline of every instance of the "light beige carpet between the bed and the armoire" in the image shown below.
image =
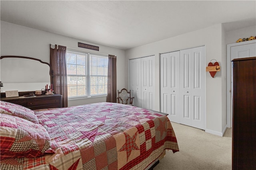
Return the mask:
[[179,152],[166,150],[165,157],[154,170],[231,170],[232,131],[223,137],[201,129],[172,122]]

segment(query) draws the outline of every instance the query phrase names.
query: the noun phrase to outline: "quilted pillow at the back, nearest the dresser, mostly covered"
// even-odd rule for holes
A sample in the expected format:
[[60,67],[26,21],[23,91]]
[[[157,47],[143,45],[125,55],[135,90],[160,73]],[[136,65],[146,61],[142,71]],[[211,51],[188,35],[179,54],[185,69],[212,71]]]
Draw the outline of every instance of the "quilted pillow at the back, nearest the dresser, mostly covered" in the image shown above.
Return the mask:
[[33,123],[39,124],[38,119],[33,110],[20,106],[18,104],[13,104],[13,103],[4,102],[4,101],[0,101],[0,102],[1,102],[0,113],[13,115],[16,117],[20,117],[22,119],[26,119]]

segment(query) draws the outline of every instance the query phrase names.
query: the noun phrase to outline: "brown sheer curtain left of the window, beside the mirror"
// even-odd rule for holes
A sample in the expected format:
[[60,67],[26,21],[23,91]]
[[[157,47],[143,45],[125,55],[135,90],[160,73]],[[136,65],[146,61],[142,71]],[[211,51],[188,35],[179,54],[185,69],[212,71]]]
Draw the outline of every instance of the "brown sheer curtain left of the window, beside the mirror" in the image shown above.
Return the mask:
[[62,95],[62,107],[68,107],[68,83],[66,68],[66,47],[50,45],[50,64],[52,65],[52,88],[54,93]]

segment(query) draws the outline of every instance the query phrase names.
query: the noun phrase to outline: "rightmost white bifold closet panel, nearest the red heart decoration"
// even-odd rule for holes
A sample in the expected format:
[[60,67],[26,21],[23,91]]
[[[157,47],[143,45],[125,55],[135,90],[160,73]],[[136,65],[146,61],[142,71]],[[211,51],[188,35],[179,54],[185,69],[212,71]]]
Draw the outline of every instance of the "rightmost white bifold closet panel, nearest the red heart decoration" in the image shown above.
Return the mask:
[[180,123],[205,129],[205,47],[180,51]]

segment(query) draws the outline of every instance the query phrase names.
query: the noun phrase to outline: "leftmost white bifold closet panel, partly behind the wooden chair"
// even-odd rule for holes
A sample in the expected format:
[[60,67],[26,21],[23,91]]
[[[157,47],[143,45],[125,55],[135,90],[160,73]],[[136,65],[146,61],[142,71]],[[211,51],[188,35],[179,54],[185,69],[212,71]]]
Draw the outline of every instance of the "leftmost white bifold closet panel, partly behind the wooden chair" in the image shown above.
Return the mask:
[[141,107],[141,59],[129,61],[129,88],[134,97],[133,105]]

